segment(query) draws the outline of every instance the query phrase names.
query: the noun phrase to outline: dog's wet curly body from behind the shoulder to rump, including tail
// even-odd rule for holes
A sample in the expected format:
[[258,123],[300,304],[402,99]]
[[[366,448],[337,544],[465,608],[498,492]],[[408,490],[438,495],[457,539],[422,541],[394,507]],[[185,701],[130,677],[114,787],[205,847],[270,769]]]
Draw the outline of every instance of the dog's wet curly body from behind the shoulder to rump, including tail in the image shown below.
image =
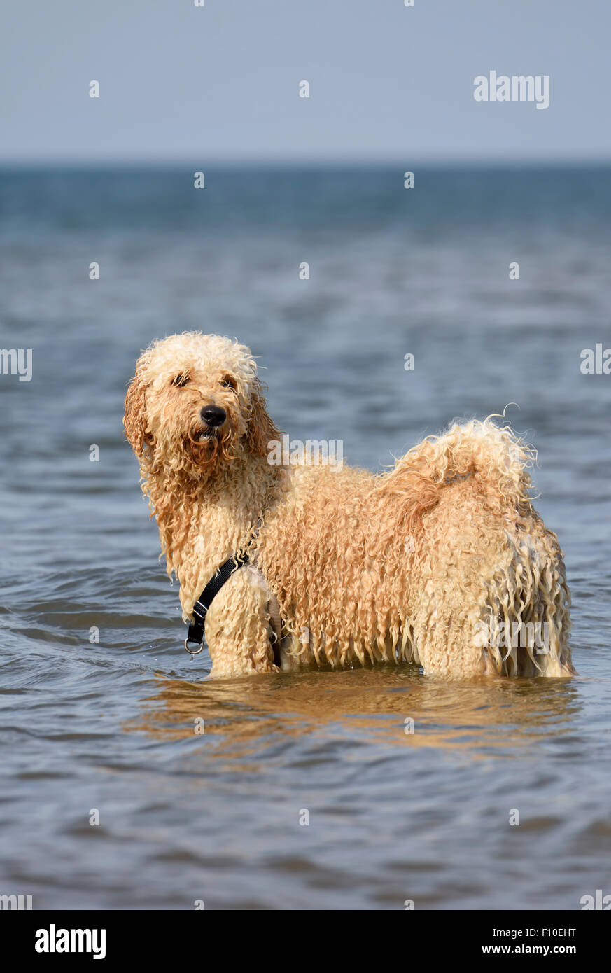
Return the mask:
[[260,559],[289,655],[440,675],[569,675],[564,566],[533,510],[529,450],[454,425],[374,477],[289,470]]

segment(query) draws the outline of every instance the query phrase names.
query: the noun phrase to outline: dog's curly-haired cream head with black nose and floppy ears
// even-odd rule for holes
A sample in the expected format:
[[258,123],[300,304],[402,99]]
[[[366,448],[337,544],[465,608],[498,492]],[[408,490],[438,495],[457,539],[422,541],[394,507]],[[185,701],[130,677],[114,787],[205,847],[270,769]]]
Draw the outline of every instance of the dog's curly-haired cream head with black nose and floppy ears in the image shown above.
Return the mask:
[[172,335],[142,353],[127,389],[124,425],[146,468],[196,478],[244,450],[267,455],[279,435],[250,350],[198,332]]

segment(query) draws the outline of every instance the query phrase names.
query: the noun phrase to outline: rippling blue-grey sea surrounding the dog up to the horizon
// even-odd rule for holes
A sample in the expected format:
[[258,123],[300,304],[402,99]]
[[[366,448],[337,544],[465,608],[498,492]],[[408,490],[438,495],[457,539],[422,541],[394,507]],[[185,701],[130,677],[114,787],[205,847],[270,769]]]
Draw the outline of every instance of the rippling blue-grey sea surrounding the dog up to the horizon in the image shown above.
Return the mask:
[[[580,354],[611,346],[611,171],[423,169],[406,190],[397,166],[244,167],[195,190],[193,169],[0,172],[0,347],[32,349],[30,381],[0,375],[0,893],[503,911],[610,894],[611,376]],[[516,403],[579,677],[206,681],[122,428],[140,349],[187,329],[249,344],[277,424],[372,469]]]

